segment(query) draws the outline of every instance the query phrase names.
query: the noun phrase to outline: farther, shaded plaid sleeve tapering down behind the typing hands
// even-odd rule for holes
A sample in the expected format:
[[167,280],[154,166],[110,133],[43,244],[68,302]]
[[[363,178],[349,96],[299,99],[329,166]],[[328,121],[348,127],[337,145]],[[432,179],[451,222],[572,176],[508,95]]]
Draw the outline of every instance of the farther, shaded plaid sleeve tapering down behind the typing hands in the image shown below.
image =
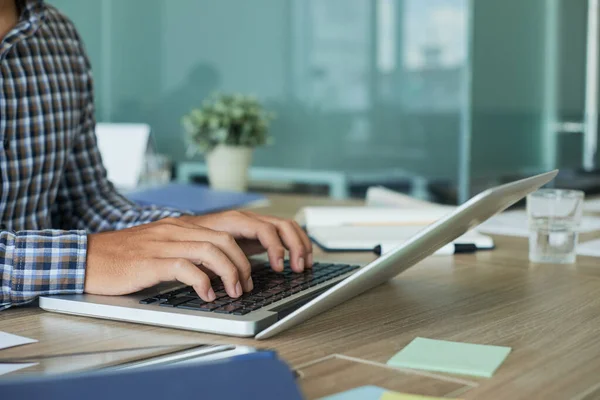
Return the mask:
[[101,232],[180,216],[177,210],[138,206],[109,182],[96,141],[91,68],[83,47],[80,51],[84,100],[53,208],[54,227]]

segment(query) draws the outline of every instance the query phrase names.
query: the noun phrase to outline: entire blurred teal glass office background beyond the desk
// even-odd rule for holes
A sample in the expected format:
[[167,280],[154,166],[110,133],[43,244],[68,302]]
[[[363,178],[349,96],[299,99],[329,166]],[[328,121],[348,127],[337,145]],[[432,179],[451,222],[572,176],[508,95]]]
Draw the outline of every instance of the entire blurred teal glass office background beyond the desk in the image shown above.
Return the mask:
[[595,0],[50,3],[86,44],[98,121],[149,124],[180,181],[206,179],[181,117],[225,91],[277,114],[251,189],[460,203],[553,168],[600,187]]

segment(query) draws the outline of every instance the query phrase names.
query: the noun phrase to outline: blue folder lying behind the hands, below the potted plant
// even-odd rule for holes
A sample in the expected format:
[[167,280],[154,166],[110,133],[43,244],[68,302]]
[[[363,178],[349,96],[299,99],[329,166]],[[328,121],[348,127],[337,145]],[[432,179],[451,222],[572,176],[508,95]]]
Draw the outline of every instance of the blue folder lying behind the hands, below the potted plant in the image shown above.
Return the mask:
[[194,214],[229,210],[265,200],[264,196],[256,193],[228,192],[213,190],[205,185],[181,183],[142,189],[126,193],[125,196],[140,205],[169,207]]

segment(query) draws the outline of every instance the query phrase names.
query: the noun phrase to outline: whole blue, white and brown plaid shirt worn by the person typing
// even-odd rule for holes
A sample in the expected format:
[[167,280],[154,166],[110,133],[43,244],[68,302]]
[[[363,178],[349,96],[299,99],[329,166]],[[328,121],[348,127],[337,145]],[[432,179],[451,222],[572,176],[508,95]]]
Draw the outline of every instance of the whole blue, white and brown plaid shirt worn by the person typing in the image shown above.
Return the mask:
[[17,5],[18,25],[0,42],[0,310],[82,293],[88,232],[180,215],[115,192],[75,27],[41,0]]

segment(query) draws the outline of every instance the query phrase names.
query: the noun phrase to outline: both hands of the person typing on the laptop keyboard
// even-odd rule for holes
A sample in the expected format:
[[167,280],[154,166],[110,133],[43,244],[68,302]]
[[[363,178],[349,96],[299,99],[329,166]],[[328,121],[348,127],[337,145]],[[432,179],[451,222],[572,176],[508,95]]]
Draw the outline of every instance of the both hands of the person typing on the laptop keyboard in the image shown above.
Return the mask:
[[247,256],[266,251],[273,269],[282,271],[286,248],[294,271],[312,267],[312,245],[298,224],[237,211],[91,234],[85,291],[120,295],[179,281],[213,301],[210,278],[219,276],[237,298],[253,288]]

